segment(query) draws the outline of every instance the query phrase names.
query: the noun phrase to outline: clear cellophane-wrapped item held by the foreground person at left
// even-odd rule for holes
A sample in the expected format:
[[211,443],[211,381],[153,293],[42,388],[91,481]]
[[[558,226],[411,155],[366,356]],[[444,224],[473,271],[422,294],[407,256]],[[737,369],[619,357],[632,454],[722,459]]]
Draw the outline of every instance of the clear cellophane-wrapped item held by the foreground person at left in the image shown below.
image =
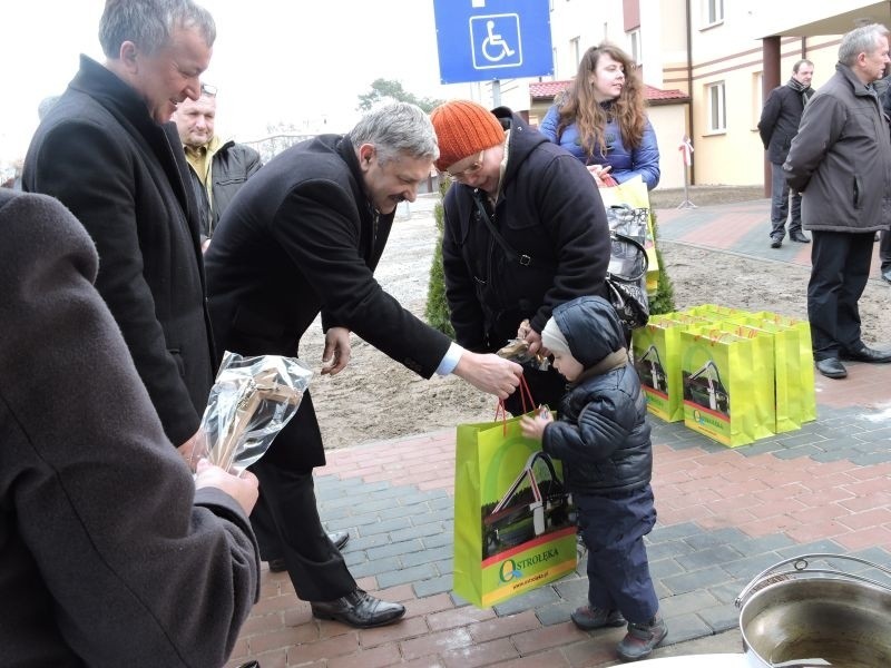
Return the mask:
[[312,371],[296,357],[226,352],[202,418],[212,464],[241,473],[297,412]]

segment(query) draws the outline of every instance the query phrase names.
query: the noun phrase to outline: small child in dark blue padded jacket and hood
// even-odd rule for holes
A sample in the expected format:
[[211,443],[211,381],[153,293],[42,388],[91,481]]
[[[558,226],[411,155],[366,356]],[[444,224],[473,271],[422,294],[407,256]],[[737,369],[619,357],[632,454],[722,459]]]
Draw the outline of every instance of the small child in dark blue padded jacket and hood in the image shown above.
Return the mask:
[[644,536],[656,523],[653,443],[640,381],[628,361],[615,308],[578,297],[554,310],[541,332],[554,366],[569,381],[558,421],[526,416],[526,436],[564,463],[588,548],[588,605],[572,612],[581,629],[623,626],[623,660],[649,656],[668,632],[649,574]]

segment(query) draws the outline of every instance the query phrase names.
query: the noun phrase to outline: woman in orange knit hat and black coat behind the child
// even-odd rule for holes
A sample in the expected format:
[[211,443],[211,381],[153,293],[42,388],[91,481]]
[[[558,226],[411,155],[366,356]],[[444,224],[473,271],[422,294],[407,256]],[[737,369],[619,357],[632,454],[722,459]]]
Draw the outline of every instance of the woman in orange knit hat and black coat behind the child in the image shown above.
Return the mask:
[[[446,194],[442,264],[458,343],[493,352],[517,336],[544,351],[555,306],[606,297],[609,229],[585,167],[507,107],[453,100],[430,115]],[[525,369],[536,404],[557,406],[566,381]],[[523,412],[520,393],[508,410]],[[528,406],[527,406],[528,407]]]

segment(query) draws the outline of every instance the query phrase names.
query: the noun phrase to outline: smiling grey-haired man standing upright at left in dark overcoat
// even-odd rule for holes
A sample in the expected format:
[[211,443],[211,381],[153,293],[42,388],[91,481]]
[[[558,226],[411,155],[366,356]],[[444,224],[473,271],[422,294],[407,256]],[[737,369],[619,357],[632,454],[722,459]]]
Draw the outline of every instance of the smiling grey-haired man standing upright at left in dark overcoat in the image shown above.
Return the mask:
[[99,252],[96,287],[167,438],[190,458],[214,379],[198,216],[176,104],[200,95],[214,20],[192,0],[108,0],[104,65],[80,71],[40,124],[25,188],[61,200]]

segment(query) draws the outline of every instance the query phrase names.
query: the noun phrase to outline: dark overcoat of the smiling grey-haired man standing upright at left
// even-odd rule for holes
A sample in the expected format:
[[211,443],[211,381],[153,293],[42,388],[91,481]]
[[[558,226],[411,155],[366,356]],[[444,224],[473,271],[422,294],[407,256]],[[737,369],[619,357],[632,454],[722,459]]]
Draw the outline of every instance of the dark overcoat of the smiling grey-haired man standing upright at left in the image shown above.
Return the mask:
[[214,379],[199,223],[174,124],[110,70],[80,71],[40,124],[25,189],[61,200],[99,252],[96,287],[175,445],[197,430]]

